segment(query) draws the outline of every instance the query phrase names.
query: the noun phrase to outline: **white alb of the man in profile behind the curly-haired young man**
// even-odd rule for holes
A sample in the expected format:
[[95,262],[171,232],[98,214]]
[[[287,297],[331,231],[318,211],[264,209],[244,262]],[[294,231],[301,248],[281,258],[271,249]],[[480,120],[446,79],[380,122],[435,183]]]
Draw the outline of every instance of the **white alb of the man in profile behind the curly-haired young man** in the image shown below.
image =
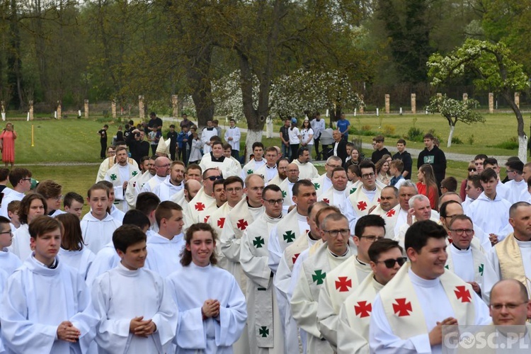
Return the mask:
[[160,234],[154,234],[147,239],[147,258],[145,268],[166,278],[171,273],[183,268],[181,265],[181,251],[185,241],[183,234],[166,239]]

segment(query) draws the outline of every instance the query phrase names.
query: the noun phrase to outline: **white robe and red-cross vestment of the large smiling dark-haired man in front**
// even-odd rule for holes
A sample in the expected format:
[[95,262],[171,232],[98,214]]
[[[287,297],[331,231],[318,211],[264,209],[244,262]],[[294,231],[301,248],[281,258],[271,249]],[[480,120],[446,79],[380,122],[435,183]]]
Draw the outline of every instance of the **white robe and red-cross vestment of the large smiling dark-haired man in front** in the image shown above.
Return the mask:
[[[472,287],[451,272],[445,272],[444,276],[450,280],[450,285],[452,285],[449,286],[448,290],[445,290],[442,285],[442,275],[434,280],[426,280],[413,273],[408,263],[402,265],[394,278],[380,290],[372,306],[369,329],[371,353],[438,354],[441,353],[442,347],[440,345],[430,346],[428,338],[428,333],[437,325],[438,321],[454,317],[459,324],[483,325],[491,323],[489,308],[476,295]],[[403,285],[408,284],[404,281],[407,279],[406,277],[410,279],[409,285],[413,291],[404,292],[402,290]],[[454,287],[453,284],[459,285]],[[382,301],[383,292],[392,299]],[[450,292],[452,299],[447,295]],[[406,297],[404,297],[404,293],[406,293]],[[394,311],[395,326],[389,324],[384,306],[388,311],[392,307],[390,311]],[[458,310],[460,313],[456,313]],[[400,324],[401,321],[404,324]],[[415,323],[413,326],[411,321]],[[418,334],[399,336],[396,333],[411,331]]]

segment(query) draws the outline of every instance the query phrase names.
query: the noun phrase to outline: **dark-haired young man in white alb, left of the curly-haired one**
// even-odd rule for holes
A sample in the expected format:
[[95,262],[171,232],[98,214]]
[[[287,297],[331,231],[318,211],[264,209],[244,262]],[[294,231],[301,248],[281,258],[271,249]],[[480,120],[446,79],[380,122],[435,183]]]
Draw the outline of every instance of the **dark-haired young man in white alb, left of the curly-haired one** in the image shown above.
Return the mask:
[[135,225],[122,225],[113,234],[113,244],[120,263],[92,286],[101,318],[99,353],[166,353],[178,314],[164,279],[144,268],[146,234]]

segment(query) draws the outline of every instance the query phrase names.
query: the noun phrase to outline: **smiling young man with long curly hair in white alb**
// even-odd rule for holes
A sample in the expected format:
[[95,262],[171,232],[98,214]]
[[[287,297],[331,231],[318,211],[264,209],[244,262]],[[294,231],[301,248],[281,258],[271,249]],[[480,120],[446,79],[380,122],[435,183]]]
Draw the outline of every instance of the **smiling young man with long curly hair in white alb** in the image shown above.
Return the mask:
[[176,353],[232,353],[247,320],[246,303],[236,279],[215,267],[217,235],[209,224],[191,225],[181,257],[182,270],[168,278],[179,319]]

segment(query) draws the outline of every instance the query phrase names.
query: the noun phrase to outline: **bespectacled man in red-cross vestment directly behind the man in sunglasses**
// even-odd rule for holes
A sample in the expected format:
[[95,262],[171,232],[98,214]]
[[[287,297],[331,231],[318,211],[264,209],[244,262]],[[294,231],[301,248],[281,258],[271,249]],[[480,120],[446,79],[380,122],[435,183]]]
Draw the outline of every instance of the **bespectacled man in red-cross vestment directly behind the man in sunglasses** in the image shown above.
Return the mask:
[[[317,323],[319,331],[334,350],[338,345],[338,319],[341,304],[371,272],[369,248],[384,239],[385,222],[379,215],[365,215],[356,223],[354,244],[358,254],[331,270],[319,292]],[[331,239],[329,238],[329,241]]]

